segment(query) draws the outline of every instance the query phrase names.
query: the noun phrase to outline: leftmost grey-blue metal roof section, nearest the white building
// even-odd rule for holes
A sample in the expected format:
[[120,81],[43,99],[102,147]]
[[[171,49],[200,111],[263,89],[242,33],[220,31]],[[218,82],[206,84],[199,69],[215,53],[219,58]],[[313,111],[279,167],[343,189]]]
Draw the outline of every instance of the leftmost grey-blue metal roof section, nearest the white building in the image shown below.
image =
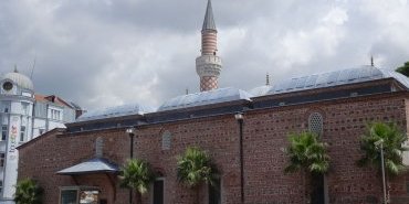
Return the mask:
[[103,109],[97,109],[93,111],[88,111],[80,116],[76,121],[88,121],[88,120],[97,120],[104,118],[114,118],[120,116],[130,116],[130,115],[144,115],[147,112],[155,111],[155,108],[149,106],[143,106],[139,104],[128,104],[123,106],[116,107],[108,107]]

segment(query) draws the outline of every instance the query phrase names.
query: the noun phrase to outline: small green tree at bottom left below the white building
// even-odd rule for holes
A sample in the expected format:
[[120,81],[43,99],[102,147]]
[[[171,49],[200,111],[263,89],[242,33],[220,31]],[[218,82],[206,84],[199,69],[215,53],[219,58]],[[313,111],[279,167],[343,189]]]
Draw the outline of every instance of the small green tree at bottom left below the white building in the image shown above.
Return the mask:
[[15,204],[42,204],[43,189],[32,179],[20,180],[15,185]]

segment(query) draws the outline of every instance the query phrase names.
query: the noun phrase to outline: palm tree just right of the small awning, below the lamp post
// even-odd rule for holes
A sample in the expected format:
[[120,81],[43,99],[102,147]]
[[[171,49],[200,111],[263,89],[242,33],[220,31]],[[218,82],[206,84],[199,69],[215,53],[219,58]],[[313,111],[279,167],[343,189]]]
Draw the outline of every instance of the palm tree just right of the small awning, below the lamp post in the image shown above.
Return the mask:
[[120,186],[136,191],[138,203],[141,204],[141,196],[149,190],[155,181],[155,175],[148,162],[140,159],[130,159],[122,168],[119,175]]

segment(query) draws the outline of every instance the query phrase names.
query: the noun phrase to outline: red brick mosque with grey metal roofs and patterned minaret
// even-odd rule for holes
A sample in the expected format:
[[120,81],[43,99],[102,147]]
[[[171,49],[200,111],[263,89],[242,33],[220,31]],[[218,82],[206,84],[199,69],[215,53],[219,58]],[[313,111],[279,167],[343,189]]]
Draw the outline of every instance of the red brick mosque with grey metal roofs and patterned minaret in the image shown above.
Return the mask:
[[[331,157],[323,193],[313,203],[381,203],[377,172],[356,165],[363,154],[359,137],[370,121],[394,121],[408,130],[409,79],[367,65],[251,92],[218,88],[223,68],[217,34],[209,0],[196,60],[200,93],[159,108],[133,104],[86,112],[20,146],[19,179],[36,180],[45,204],[130,203],[117,174],[135,157],[158,175],[144,204],[191,204],[197,194],[177,181],[176,157],[196,146],[210,153],[220,172],[214,187],[200,187],[201,204],[304,204],[310,198],[303,173],[283,173],[283,149],[289,133],[310,130],[328,144]],[[409,176],[389,178],[388,196],[391,203],[409,203]]]

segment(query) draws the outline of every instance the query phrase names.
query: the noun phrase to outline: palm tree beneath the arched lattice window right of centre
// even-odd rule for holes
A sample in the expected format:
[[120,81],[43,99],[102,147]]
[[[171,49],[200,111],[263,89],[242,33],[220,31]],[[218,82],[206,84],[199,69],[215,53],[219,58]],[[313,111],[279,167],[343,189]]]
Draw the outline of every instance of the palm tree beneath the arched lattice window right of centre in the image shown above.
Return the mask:
[[[291,133],[289,136],[290,144],[285,151],[290,158],[289,165],[284,169],[285,173],[302,171],[304,176],[323,176],[329,169],[329,157],[326,152],[324,142],[319,142],[317,136],[312,132]],[[305,182],[305,178],[304,178]],[[307,185],[305,184],[305,194],[310,197]],[[310,198],[307,198],[310,200]]]

